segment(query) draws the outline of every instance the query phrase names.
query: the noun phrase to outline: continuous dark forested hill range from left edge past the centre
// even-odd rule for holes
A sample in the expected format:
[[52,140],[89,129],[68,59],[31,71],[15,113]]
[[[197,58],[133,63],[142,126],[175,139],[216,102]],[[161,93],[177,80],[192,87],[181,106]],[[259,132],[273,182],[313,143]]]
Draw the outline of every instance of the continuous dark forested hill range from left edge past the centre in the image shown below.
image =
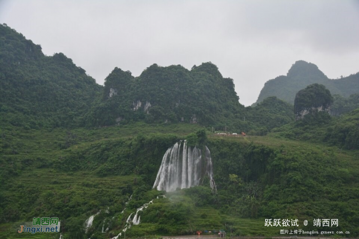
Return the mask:
[[233,79],[208,62],[192,69],[156,64],[138,77],[115,68],[105,86],[63,53],[43,54],[21,33],[0,25],[0,124],[6,127],[102,127],[197,123],[215,130],[264,134],[294,120],[293,107],[271,98],[258,107],[238,102]]

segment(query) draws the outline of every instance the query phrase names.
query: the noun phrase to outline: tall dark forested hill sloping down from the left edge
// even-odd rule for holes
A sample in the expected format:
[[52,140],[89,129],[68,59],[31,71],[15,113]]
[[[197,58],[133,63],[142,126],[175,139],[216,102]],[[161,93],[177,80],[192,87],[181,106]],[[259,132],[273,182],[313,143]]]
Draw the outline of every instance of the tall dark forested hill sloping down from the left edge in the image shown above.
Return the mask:
[[63,53],[45,56],[0,24],[0,121],[26,128],[76,127],[101,86]]

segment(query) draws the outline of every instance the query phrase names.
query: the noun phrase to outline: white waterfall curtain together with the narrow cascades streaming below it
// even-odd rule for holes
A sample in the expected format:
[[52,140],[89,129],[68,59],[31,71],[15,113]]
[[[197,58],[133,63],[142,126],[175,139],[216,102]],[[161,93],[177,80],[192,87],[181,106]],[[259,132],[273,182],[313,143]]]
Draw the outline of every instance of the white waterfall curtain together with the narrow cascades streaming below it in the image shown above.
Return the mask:
[[[216,191],[216,185],[213,180],[211,152],[208,147],[205,146],[204,149],[201,150],[197,146],[188,146],[186,140],[180,141],[170,147],[163,156],[162,164],[159,167],[153,188],[156,188],[157,190],[165,190],[167,192],[175,191],[177,188],[190,188],[202,184],[206,176],[209,178],[210,187],[213,191]],[[165,195],[160,195],[157,196],[157,199],[161,196],[166,197]],[[131,198],[132,195],[130,196],[129,201],[131,201]],[[140,212],[145,211],[150,204],[153,204],[154,200],[137,208],[136,212],[132,212],[126,220],[124,229],[111,239],[118,239],[133,225],[140,224]],[[129,201],[126,202],[125,205],[128,205]],[[124,213],[125,210],[126,208],[124,208],[121,213]],[[101,210],[96,214],[91,215],[88,220],[86,220],[86,233],[89,231],[90,227],[92,227],[94,217],[100,212]],[[106,212],[108,213],[108,210],[106,210]],[[109,227],[104,230],[105,222],[106,220],[104,220],[102,225],[102,233],[106,233],[109,230]]]

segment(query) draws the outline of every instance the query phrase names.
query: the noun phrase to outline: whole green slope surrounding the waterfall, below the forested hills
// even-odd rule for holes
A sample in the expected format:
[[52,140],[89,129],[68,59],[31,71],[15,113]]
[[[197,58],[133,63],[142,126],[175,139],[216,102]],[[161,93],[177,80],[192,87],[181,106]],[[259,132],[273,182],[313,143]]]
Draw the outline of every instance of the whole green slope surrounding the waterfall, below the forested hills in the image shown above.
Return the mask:
[[[126,232],[128,237],[220,229],[230,233],[231,228],[235,236],[278,236],[281,228],[265,227],[265,218],[312,220],[313,216],[336,216],[342,230],[357,233],[350,222],[357,220],[359,207],[358,151],[270,135],[219,136],[207,132],[217,194],[204,185],[156,199],[163,192],[151,187],[162,155],[171,142],[201,127],[144,126],[136,123],[71,131],[2,129],[5,137],[0,163],[7,171],[1,172],[0,202],[2,216],[10,222],[1,224],[0,238],[58,238],[59,233],[16,233],[21,221],[41,216],[61,218],[64,239],[113,237],[136,208],[152,199],[154,203],[140,213],[141,224]],[[99,173],[103,165],[114,170]],[[122,171],[118,165],[129,169]],[[230,181],[229,174],[242,181]],[[251,187],[260,193],[251,194]],[[85,221],[99,210],[85,233]],[[107,226],[109,231],[101,233]]]

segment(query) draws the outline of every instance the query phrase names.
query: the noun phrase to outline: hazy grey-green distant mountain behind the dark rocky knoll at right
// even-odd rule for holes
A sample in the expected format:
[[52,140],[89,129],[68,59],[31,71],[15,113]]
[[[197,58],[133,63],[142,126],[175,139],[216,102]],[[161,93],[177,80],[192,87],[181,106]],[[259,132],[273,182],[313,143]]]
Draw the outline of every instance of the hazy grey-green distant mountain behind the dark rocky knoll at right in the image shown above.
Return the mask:
[[297,61],[286,76],[281,75],[266,82],[253,105],[269,96],[276,96],[293,104],[296,92],[315,83],[324,85],[332,94],[349,97],[359,93],[359,72],[340,79],[329,79],[316,65]]

